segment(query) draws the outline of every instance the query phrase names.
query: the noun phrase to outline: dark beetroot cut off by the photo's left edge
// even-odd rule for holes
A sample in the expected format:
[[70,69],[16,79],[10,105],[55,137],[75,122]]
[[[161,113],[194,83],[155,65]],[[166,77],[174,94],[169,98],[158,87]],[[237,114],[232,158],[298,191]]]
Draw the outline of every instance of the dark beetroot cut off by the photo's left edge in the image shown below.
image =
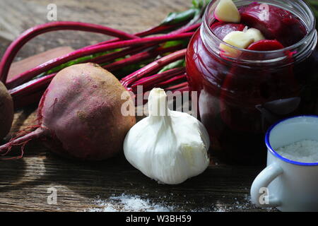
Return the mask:
[[13,121],[13,100],[6,90],[4,83],[0,82],[0,139],[4,138],[11,129]]

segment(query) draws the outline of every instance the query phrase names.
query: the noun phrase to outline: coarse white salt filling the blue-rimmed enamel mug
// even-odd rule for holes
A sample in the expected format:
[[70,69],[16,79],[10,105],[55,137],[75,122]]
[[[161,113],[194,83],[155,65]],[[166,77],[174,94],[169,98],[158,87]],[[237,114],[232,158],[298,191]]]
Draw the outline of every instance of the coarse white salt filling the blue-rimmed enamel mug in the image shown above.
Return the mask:
[[277,148],[276,152],[288,160],[305,163],[318,162],[318,141],[298,141]]

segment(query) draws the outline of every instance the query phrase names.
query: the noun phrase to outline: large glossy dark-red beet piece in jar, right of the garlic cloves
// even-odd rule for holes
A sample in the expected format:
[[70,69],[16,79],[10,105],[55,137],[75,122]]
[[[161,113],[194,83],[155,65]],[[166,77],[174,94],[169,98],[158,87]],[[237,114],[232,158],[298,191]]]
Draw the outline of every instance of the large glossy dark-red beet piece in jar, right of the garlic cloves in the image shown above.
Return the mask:
[[283,8],[264,4],[249,4],[240,8],[241,23],[261,30],[269,40],[278,40],[289,47],[307,34],[302,21]]

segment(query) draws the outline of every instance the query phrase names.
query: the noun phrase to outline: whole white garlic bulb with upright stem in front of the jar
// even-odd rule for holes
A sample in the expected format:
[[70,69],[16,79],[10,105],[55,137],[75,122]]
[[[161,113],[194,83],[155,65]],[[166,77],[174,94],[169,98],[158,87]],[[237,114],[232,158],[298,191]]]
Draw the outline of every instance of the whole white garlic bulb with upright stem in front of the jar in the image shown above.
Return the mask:
[[208,167],[208,133],[199,120],[170,111],[167,95],[151,90],[149,116],[135,124],[124,140],[126,159],[162,184],[180,184]]

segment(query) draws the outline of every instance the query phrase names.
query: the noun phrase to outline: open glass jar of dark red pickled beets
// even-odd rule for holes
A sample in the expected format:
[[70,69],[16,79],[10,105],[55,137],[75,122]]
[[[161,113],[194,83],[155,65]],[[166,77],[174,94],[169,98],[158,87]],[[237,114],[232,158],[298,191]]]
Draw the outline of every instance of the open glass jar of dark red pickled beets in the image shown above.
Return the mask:
[[[187,49],[187,78],[190,90],[198,92],[212,155],[228,164],[261,165],[269,126],[293,115],[318,114],[316,21],[300,0],[233,2],[239,23],[215,18],[219,1],[206,8]],[[266,40],[246,49],[223,42],[228,33],[247,28],[258,29]]]

